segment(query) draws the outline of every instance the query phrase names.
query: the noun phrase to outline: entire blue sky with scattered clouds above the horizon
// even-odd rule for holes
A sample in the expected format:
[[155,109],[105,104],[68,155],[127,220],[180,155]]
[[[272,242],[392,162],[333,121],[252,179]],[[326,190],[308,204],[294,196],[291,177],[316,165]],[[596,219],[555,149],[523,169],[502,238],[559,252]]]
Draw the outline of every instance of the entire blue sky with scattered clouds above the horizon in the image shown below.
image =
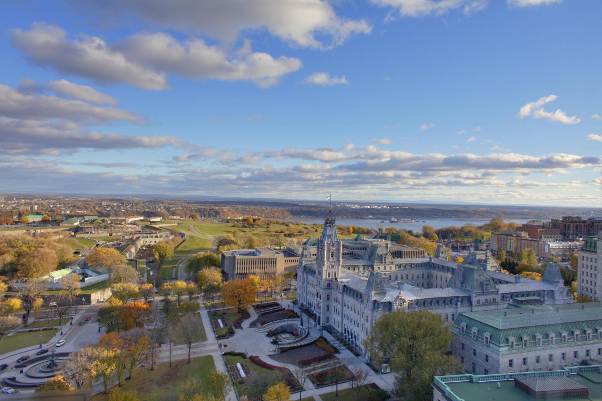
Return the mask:
[[600,206],[599,1],[102,4],[4,3],[4,190]]

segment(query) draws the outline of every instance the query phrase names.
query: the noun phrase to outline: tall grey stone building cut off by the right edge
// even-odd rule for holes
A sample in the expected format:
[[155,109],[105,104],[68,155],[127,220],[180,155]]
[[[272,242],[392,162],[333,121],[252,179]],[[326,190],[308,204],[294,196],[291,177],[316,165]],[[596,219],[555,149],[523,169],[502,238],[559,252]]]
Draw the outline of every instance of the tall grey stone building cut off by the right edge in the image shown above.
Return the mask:
[[[602,294],[602,276],[598,279],[598,267],[602,268],[602,232],[588,237],[577,250],[577,295],[598,299]],[[602,269],[600,270],[602,275]],[[600,290],[600,291],[598,291]]]

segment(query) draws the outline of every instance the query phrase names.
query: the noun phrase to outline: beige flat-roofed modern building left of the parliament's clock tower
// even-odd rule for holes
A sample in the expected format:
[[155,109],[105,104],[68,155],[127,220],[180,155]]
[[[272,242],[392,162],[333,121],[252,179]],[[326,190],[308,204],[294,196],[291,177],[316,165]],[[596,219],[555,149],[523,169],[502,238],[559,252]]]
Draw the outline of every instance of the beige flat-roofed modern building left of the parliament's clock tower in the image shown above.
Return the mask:
[[222,251],[222,270],[226,280],[243,279],[249,275],[273,278],[280,273],[294,272],[297,264],[299,255],[267,246]]

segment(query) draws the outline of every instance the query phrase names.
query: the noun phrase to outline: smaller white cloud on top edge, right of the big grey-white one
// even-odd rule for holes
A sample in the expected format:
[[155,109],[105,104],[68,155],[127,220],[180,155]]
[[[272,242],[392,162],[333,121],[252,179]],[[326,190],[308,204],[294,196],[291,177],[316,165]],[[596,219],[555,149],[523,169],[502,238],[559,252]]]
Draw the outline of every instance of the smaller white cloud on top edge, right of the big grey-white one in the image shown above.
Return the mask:
[[[427,15],[441,15],[456,8],[462,8],[465,14],[483,10],[488,0],[371,0],[380,7],[394,7],[399,9],[402,17],[423,17]],[[393,16],[385,17],[385,22],[394,20]]]

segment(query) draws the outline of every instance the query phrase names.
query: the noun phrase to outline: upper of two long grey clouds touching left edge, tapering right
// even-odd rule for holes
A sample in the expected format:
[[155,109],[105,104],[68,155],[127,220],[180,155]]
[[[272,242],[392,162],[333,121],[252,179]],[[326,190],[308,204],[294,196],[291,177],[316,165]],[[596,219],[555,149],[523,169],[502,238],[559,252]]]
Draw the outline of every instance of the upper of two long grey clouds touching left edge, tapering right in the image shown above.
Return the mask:
[[[92,88],[90,88],[92,89]],[[17,119],[68,119],[76,122],[126,121],[144,123],[137,114],[113,107],[98,107],[56,96],[26,95],[0,84],[0,116]]]

